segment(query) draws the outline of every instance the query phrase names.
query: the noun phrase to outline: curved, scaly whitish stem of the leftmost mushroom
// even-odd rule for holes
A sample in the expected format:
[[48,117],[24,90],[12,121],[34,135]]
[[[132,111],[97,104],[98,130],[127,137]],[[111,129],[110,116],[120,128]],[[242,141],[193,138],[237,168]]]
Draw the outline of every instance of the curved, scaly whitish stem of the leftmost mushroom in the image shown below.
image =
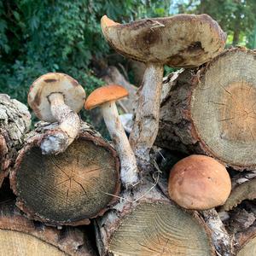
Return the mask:
[[41,149],[43,154],[59,154],[78,136],[80,119],[79,115],[65,104],[61,93],[50,94],[48,100],[51,113],[60,125],[58,132],[51,132],[44,137]]

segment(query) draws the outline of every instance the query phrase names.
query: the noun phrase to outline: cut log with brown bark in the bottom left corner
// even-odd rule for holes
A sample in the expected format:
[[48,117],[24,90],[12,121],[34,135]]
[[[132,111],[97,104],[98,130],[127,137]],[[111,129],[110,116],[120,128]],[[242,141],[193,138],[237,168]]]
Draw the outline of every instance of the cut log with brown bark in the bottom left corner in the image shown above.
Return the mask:
[[1,204],[0,212],[0,255],[96,255],[82,230],[73,227],[57,230],[33,223],[11,204]]

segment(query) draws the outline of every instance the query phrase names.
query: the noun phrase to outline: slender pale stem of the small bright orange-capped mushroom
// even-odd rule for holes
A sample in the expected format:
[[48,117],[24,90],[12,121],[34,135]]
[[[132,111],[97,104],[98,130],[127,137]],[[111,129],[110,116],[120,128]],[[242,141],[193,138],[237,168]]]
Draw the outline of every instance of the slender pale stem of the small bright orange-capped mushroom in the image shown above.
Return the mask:
[[120,122],[115,102],[102,104],[101,108],[105,124],[119,154],[121,181],[125,187],[134,186],[138,182],[137,162]]

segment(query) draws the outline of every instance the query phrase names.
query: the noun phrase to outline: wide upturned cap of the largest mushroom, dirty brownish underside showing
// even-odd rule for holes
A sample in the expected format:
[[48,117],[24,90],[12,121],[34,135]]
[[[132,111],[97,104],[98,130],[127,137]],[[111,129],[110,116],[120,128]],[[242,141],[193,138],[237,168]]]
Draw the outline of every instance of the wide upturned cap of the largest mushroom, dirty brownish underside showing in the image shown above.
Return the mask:
[[102,17],[108,44],[122,55],[172,67],[198,67],[218,55],[226,34],[209,15],[174,15],[119,24]]

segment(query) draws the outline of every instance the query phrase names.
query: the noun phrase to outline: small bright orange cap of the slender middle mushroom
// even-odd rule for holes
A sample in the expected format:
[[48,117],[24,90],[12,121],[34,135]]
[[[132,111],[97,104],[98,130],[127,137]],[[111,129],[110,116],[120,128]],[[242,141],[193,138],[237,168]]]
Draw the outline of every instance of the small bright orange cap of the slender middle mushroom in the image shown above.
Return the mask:
[[102,86],[94,90],[90,96],[88,96],[84,104],[84,108],[90,110],[107,102],[118,101],[119,99],[128,95],[128,90],[119,84],[109,84]]

